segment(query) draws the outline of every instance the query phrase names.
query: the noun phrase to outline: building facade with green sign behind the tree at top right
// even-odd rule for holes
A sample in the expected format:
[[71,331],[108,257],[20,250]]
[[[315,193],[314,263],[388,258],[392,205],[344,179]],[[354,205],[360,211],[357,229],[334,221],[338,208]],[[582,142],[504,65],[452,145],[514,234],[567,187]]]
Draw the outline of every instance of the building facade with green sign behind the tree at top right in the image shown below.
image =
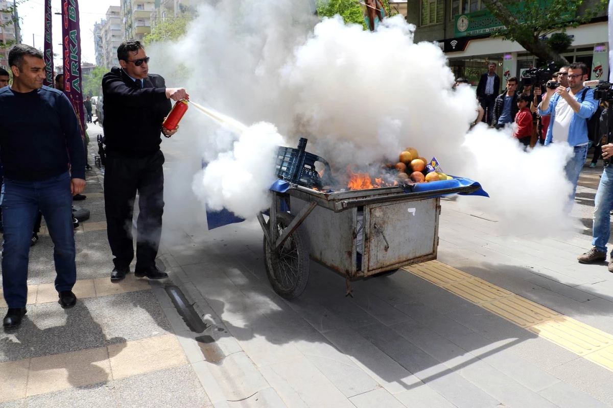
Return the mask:
[[[524,70],[545,63],[519,43],[490,37],[490,32],[502,24],[481,0],[415,0],[407,4],[406,20],[417,26],[415,41],[438,42],[455,76],[464,76],[473,85],[487,71],[489,62],[495,62],[498,75],[507,78],[519,77]],[[595,0],[588,0],[583,7],[594,4]],[[566,32],[573,38],[573,45],[562,55],[569,62],[585,62],[592,67],[590,79],[606,78],[608,73],[602,72],[603,64],[608,70],[606,13]]]

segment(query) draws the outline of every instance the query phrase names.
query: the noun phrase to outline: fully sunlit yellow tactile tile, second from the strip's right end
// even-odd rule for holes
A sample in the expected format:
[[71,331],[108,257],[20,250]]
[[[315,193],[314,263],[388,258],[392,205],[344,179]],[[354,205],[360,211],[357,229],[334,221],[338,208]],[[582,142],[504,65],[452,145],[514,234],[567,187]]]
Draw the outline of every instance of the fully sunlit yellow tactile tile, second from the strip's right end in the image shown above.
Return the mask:
[[528,330],[577,355],[587,355],[613,345],[613,336],[568,316],[539,323]]

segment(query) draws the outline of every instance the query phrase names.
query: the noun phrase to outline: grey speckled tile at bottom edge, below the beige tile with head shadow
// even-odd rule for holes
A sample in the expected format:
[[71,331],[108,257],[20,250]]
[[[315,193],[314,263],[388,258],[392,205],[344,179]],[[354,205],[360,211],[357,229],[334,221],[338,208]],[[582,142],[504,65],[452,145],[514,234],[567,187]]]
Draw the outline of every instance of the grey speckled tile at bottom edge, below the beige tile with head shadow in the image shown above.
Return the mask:
[[112,382],[31,396],[25,401],[27,406],[32,408],[117,406],[116,392],[113,390]]

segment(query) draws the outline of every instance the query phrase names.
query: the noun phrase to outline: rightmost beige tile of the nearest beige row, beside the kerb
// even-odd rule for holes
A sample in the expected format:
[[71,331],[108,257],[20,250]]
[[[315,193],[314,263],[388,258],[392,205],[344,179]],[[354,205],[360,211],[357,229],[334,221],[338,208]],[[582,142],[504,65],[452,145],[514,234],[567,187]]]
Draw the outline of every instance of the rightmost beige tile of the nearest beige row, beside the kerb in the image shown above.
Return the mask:
[[115,380],[175,368],[188,363],[175,335],[110,344],[108,348]]

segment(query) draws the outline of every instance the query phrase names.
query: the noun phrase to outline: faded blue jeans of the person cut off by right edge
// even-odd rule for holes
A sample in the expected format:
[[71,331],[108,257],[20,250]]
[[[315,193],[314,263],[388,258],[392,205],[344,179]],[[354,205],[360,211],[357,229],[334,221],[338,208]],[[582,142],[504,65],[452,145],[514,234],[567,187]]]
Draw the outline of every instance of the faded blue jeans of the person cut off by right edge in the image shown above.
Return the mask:
[[613,209],[613,166],[604,168],[596,191],[592,245],[601,252],[607,251],[611,234],[611,210]]

